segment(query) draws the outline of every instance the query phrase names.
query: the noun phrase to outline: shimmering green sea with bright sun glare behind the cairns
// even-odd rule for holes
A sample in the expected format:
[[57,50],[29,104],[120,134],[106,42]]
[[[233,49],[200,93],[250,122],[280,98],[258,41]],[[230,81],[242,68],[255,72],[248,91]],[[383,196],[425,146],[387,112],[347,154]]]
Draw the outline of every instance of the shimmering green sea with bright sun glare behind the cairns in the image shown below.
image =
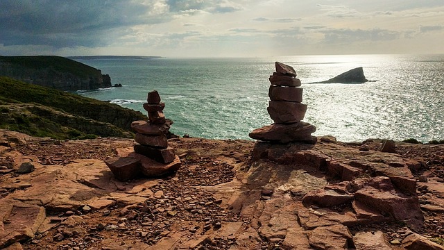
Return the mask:
[[[272,124],[268,77],[279,61],[302,81],[304,121],[316,126],[314,135],[343,142],[444,140],[444,55],[77,60],[123,85],[78,94],[146,113],[147,93],[157,90],[174,122],[171,132],[180,136],[249,139],[253,129]],[[355,67],[375,82],[313,83]]]

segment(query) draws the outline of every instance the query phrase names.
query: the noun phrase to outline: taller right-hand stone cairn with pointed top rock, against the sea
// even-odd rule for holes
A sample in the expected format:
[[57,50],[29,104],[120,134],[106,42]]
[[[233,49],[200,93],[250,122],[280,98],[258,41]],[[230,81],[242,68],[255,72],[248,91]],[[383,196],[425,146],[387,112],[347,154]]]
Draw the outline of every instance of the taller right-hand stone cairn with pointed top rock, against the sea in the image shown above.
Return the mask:
[[268,114],[274,124],[257,128],[251,132],[250,138],[266,142],[287,144],[289,142],[303,142],[315,144],[317,138],[311,133],[316,127],[301,122],[304,119],[307,105],[302,103],[301,82],[296,78],[293,67],[276,62],[276,72],[270,76],[270,97]]

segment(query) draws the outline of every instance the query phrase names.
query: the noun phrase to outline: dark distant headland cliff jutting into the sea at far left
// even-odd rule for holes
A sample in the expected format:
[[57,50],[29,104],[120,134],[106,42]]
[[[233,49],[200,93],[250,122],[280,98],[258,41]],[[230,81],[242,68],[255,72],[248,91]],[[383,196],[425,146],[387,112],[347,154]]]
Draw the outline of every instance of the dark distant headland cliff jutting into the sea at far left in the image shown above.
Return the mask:
[[0,76],[64,91],[111,87],[109,75],[60,56],[0,56]]

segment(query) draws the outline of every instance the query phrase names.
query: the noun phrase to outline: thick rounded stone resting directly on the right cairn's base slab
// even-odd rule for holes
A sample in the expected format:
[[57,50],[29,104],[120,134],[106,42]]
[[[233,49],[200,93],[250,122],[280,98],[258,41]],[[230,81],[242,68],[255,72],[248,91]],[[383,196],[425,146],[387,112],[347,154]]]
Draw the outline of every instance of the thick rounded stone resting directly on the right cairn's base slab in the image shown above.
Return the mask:
[[277,124],[294,123],[304,119],[307,105],[290,101],[270,101],[266,110]]

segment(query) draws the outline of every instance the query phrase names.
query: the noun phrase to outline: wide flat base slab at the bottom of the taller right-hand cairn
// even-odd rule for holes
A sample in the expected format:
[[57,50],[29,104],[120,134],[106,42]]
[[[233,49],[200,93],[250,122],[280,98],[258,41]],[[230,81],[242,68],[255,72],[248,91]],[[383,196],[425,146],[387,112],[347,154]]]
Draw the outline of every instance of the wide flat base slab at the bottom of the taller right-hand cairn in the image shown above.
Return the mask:
[[316,138],[311,133],[316,131],[316,127],[306,123],[298,122],[295,124],[271,124],[257,128],[249,134],[250,138],[268,142],[288,143],[288,142],[307,142],[316,143]]

